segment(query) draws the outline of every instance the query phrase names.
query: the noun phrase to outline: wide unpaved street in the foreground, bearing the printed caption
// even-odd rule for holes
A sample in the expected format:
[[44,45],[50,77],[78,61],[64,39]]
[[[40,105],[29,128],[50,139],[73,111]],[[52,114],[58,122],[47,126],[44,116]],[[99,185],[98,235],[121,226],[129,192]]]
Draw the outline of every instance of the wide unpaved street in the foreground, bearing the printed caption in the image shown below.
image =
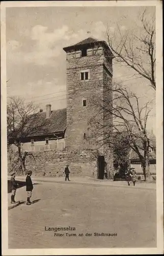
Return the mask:
[[36,182],[31,201],[8,211],[9,248],[156,247],[155,189]]

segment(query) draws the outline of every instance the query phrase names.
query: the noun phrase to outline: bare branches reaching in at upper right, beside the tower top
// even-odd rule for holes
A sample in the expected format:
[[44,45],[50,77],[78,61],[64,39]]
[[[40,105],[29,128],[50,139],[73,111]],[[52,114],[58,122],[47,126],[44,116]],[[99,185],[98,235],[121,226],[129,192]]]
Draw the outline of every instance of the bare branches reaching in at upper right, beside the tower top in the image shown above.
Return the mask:
[[115,60],[125,64],[135,75],[149,81],[150,87],[156,90],[155,83],[155,18],[148,20],[146,10],[141,15],[141,28],[133,31],[122,31],[117,25],[114,34],[107,29],[108,45],[111,47]]

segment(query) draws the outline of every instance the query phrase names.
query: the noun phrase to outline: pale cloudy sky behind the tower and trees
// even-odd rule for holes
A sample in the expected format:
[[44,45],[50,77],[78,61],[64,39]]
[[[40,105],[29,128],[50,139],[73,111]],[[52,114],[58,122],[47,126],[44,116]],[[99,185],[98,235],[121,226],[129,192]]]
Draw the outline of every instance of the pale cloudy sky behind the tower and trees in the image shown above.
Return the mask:
[[[66,53],[63,47],[87,37],[106,40],[106,28],[140,28],[145,7],[14,7],[6,8],[7,96],[24,97],[40,108],[66,107]],[[149,18],[154,7],[146,7]],[[89,33],[88,33],[89,32]],[[141,97],[155,98],[145,79],[115,63],[113,80],[121,80]],[[148,119],[155,134],[155,105]]]

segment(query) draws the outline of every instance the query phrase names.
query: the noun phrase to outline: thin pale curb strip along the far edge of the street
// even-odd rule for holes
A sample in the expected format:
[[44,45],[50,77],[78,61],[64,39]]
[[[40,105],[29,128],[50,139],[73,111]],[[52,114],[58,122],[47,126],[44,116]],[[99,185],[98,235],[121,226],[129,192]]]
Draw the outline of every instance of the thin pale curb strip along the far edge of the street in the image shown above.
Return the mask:
[[[19,178],[19,179],[22,179],[23,180],[23,178]],[[18,178],[17,178],[17,180],[18,180]],[[96,185],[96,186],[101,186],[101,185],[104,185],[104,186],[116,186],[116,187],[127,187],[127,188],[132,188],[133,186],[131,186],[131,187],[129,187],[129,186],[125,186],[125,185],[123,185],[123,184],[117,184],[117,185],[114,185],[114,184],[112,184],[112,183],[108,183],[108,184],[102,184],[102,183],[94,183],[94,182],[82,182],[82,181],[61,181],[61,180],[44,180],[44,179],[37,179],[37,178],[35,178],[34,177],[34,179],[33,179],[33,181],[34,181],[34,183],[35,182],[37,182],[37,181],[39,181],[39,182],[53,182],[53,183],[65,183],[65,184],[83,184],[83,185]],[[138,187],[138,186],[135,186],[135,187],[137,187],[138,189],[153,189],[153,190],[156,190],[156,187]],[[134,188],[133,188],[134,189]]]

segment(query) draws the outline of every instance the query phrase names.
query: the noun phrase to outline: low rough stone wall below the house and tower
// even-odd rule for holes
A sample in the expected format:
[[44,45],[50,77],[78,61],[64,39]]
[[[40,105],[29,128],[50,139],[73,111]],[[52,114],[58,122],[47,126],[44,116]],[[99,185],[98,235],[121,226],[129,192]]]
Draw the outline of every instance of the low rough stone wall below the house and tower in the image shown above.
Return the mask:
[[[8,173],[11,172],[14,159],[17,153],[14,153],[13,159],[8,160]],[[90,176],[97,178],[97,157],[96,152],[92,151],[44,151],[31,152],[31,155],[25,159],[27,170],[32,170],[33,176],[53,176],[64,175],[66,164],[69,164],[71,175]],[[17,175],[21,175],[17,173]]]

